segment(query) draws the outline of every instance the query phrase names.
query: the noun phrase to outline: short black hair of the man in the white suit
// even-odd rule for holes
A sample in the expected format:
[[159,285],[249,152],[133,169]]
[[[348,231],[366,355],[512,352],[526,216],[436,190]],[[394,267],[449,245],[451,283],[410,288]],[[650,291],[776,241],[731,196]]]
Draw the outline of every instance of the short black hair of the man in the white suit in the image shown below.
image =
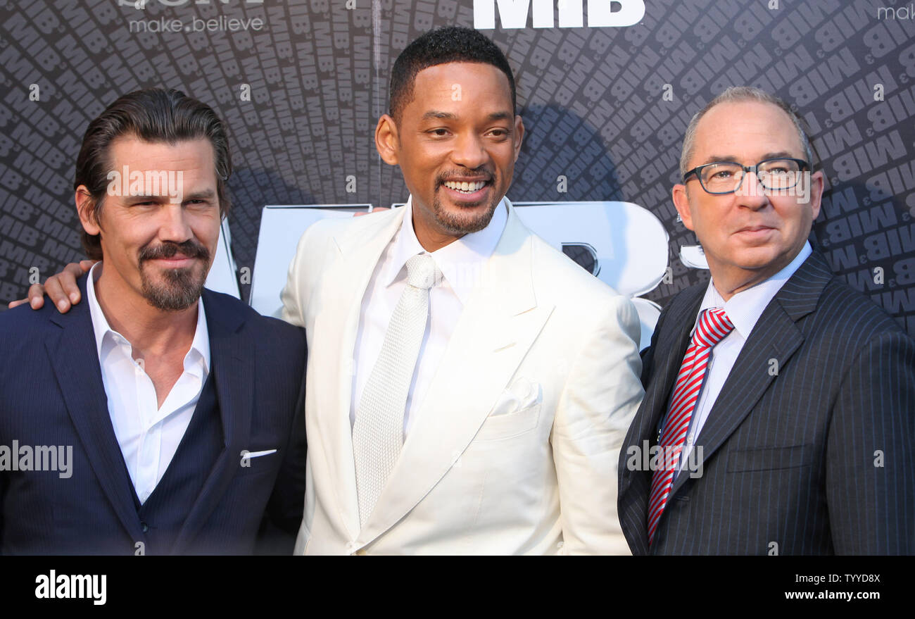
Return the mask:
[[515,112],[514,75],[499,46],[471,28],[448,26],[430,30],[416,38],[394,60],[390,93],[390,114],[394,122],[400,122],[404,107],[413,101],[416,73],[447,62],[482,62],[505,73],[511,89],[511,111]]

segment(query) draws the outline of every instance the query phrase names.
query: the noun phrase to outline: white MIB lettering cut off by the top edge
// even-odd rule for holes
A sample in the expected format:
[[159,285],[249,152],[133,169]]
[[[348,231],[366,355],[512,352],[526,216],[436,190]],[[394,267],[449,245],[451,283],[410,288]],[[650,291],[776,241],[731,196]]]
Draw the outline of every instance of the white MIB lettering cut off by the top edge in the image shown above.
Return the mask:
[[[503,28],[527,26],[533,10],[533,27],[555,27],[553,7],[559,14],[559,27],[585,25],[585,0],[473,0],[473,27],[489,30],[496,27],[496,7]],[[533,9],[532,6],[533,5]],[[588,27],[635,26],[645,16],[644,0],[587,0]]]

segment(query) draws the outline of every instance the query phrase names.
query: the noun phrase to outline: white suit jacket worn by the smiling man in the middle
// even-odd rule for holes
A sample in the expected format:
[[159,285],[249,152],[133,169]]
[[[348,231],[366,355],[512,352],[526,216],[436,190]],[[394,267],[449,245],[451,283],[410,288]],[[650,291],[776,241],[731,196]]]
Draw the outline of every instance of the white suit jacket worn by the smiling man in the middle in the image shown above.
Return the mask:
[[352,357],[365,288],[404,209],[302,235],[282,295],[283,318],[308,341],[296,554],[629,553],[617,462],[643,396],[638,315],[508,209],[362,528]]

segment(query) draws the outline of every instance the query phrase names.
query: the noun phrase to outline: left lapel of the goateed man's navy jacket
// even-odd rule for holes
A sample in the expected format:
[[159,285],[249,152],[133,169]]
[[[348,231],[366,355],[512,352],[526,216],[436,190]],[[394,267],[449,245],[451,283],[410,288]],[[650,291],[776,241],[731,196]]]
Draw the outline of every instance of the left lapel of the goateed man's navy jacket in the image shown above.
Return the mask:
[[[79,282],[82,299],[86,299],[88,279],[81,277]],[[63,316],[55,311],[50,320],[61,331],[56,340],[45,341],[45,348],[86,458],[121,524],[132,539],[143,539],[133,483],[108,412],[89,304],[75,305]]]

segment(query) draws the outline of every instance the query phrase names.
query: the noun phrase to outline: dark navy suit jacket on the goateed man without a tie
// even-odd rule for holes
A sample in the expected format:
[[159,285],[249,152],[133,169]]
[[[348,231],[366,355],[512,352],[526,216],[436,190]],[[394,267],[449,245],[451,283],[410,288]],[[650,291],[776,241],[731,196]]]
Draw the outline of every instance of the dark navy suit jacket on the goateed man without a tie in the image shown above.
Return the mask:
[[[221,440],[215,433],[209,460],[184,451],[186,466],[209,472],[196,498],[177,506],[183,524],[167,532],[167,552],[291,554],[305,493],[305,331],[221,293],[202,297]],[[0,471],[0,552],[134,554],[147,532],[108,412],[88,303],[66,314],[50,303],[5,311],[0,351],[0,446],[73,452],[69,478]],[[274,449],[242,465],[243,450]]]

